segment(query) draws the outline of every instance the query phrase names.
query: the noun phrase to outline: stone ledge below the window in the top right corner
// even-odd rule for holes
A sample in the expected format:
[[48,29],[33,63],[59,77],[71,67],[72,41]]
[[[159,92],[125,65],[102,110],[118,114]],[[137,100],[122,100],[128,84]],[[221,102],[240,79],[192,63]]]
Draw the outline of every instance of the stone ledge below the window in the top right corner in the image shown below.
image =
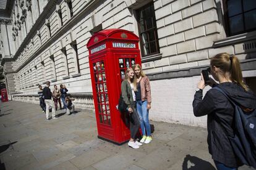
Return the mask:
[[230,36],[228,38],[213,41],[213,48],[228,46],[231,44],[237,44],[239,42],[244,42],[244,41],[250,41],[255,38],[256,38],[256,31],[252,31],[244,34],[238,34],[235,36]]

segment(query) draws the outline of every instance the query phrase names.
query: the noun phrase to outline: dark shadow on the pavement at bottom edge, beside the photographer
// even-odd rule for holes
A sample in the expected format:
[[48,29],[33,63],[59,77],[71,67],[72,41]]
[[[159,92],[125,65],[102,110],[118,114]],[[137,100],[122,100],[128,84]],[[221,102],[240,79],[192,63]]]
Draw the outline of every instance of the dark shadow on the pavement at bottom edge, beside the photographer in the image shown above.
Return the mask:
[[[188,167],[189,166],[189,167]],[[196,156],[186,155],[182,164],[182,170],[216,170],[208,161],[197,158]]]

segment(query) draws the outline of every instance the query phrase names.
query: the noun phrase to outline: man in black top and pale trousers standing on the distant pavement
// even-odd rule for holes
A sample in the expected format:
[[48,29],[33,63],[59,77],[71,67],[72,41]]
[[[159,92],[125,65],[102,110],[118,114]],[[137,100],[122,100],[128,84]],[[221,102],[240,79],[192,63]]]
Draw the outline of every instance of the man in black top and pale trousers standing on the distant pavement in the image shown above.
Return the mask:
[[43,88],[43,95],[45,96],[45,103],[46,103],[46,119],[50,119],[51,117],[49,116],[49,108],[52,108],[52,116],[53,119],[57,119],[56,114],[55,114],[55,105],[53,100],[51,99],[51,89],[49,89],[50,82],[46,81],[46,86]]

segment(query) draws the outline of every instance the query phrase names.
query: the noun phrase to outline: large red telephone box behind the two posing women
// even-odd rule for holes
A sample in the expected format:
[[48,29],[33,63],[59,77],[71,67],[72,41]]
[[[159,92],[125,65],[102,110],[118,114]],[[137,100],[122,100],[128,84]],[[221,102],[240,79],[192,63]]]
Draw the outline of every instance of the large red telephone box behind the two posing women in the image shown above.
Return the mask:
[[129,116],[116,105],[126,68],[141,64],[139,37],[127,30],[108,29],[87,43],[98,138],[123,144],[130,139]]

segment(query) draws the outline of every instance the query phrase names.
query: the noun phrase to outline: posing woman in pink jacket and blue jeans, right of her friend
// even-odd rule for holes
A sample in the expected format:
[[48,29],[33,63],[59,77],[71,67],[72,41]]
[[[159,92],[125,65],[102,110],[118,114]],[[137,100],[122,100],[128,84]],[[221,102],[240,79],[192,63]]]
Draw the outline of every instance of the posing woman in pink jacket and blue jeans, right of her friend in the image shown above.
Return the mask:
[[136,109],[140,118],[140,128],[142,129],[143,135],[140,142],[149,144],[152,140],[150,122],[148,119],[148,110],[151,108],[150,80],[143,73],[142,67],[140,67],[139,64],[135,65],[134,71],[137,79],[137,91],[135,91]]

